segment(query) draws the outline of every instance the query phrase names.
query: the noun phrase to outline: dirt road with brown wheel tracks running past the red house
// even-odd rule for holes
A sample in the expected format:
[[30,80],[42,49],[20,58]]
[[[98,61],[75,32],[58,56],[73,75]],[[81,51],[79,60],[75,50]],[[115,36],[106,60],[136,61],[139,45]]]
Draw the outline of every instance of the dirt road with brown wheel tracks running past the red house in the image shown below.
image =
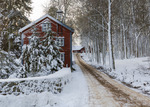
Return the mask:
[[88,83],[89,107],[150,107],[149,97],[116,82],[76,56]]

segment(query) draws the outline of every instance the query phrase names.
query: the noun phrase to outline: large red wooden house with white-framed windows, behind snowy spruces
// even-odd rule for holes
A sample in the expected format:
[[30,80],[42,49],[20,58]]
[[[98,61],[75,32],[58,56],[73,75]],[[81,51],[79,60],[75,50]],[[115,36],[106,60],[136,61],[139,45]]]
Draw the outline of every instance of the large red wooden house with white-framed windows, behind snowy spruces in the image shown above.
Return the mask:
[[49,28],[51,28],[53,32],[56,32],[56,41],[62,48],[62,50],[60,50],[60,58],[64,61],[65,67],[72,67],[72,34],[74,30],[59,20],[49,15],[44,15],[19,30],[22,46],[29,44],[30,36],[33,34],[33,29],[35,28],[39,37],[43,37]]

